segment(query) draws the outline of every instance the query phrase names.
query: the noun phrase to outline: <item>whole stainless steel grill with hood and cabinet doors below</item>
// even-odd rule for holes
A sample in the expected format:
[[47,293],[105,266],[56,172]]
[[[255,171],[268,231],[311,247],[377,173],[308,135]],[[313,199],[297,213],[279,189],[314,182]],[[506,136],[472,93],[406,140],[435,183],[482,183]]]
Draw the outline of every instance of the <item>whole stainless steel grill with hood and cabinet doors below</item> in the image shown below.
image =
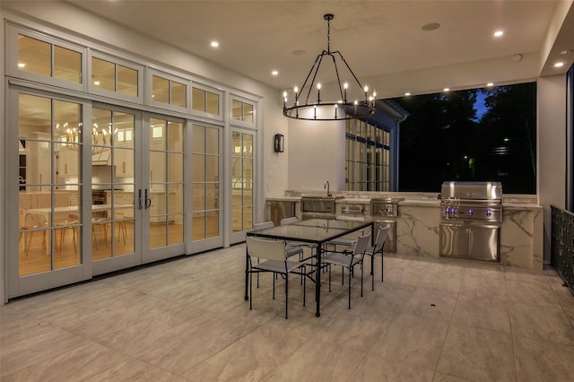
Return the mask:
[[440,220],[440,256],[499,260],[500,182],[444,182]]

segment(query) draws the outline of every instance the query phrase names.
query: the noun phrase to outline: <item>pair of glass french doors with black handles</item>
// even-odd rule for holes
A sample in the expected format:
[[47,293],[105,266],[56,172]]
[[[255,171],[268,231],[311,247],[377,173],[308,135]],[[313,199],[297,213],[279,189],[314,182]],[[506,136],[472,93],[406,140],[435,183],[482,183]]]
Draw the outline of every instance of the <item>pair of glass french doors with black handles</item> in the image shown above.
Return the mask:
[[93,274],[184,253],[184,121],[94,106],[91,126]]

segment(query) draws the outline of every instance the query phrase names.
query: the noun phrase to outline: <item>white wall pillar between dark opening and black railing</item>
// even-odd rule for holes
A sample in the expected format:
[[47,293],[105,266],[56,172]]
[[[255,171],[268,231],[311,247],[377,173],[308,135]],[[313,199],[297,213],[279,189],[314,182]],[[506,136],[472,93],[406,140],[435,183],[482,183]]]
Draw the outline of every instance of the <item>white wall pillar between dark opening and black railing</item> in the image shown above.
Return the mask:
[[566,200],[566,76],[538,79],[538,195],[544,207],[544,261],[550,261],[551,209]]

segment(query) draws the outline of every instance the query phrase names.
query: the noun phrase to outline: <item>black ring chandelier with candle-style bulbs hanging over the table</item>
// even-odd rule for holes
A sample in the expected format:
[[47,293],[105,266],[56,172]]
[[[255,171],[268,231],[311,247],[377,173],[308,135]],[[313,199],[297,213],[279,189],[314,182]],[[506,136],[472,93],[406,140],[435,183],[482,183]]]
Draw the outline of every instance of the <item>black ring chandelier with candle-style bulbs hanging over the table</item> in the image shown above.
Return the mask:
[[[311,121],[334,121],[352,118],[368,117],[375,112],[375,98],[377,92],[369,94],[369,87],[363,87],[357,76],[352,73],[351,67],[347,64],[344,56],[337,50],[331,51],[331,20],[335,16],[327,13],[323,16],[327,24],[326,50],[319,54],[315,60],[309,74],[299,89],[293,88],[294,100],[288,104],[288,92],[283,91],[283,116],[294,119],[305,119]],[[323,65],[323,59],[332,65]],[[325,68],[327,66],[327,68]],[[320,71],[319,71],[320,69]],[[324,78],[321,76],[326,75]],[[341,83],[341,78],[346,78]],[[331,78],[335,86],[338,87],[338,96],[335,100],[321,100],[321,80]],[[335,82],[336,79],[336,82]],[[310,80],[310,81],[309,81]],[[351,84],[349,83],[352,83]],[[327,83],[327,82],[325,82]],[[317,97],[315,97],[315,94]],[[303,100],[303,97],[305,99]],[[289,106],[291,105],[291,106]]]

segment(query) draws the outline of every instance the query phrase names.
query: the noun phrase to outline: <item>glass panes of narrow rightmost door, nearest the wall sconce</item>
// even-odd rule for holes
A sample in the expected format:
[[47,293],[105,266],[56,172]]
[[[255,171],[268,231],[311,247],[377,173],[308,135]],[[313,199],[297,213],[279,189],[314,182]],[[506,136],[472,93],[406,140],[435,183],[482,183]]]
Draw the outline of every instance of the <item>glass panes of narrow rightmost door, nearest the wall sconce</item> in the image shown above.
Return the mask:
[[253,227],[255,135],[235,130],[231,139],[231,233]]

